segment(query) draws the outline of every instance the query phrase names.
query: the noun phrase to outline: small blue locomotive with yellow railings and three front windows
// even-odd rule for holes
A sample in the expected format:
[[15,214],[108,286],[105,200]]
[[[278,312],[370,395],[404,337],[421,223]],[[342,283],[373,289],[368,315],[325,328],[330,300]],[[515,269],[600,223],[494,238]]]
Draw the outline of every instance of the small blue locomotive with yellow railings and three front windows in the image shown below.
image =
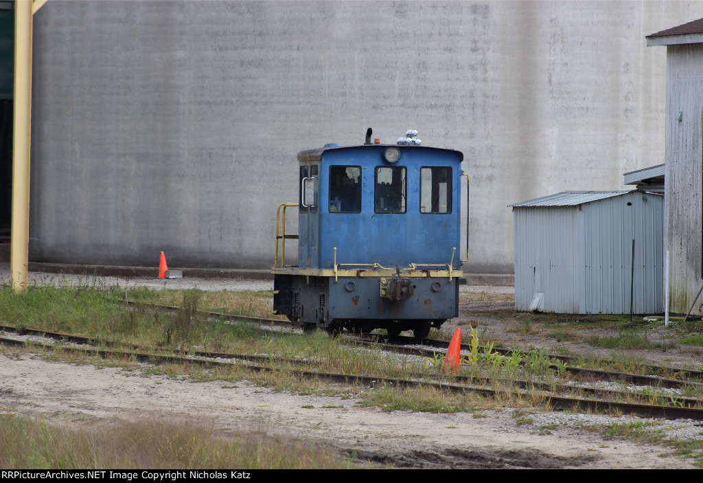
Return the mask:
[[[304,330],[427,337],[458,316],[463,153],[420,146],[327,144],[303,150],[299,200],[278,207],[273,309]],[[298,264],[285,265],[285,208],[298,207]],[[283,207],[283,233],[280,210]],[[278,260],[279,241],[283,256]]]

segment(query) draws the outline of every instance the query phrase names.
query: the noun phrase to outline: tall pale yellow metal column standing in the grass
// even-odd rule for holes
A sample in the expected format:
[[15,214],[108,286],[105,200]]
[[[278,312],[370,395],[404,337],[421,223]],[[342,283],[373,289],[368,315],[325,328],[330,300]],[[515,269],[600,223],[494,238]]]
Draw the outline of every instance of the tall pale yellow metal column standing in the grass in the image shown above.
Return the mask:
[[27,290],[30,240],[32,1],[15,1],[15,88],[10,269],[15,290]]

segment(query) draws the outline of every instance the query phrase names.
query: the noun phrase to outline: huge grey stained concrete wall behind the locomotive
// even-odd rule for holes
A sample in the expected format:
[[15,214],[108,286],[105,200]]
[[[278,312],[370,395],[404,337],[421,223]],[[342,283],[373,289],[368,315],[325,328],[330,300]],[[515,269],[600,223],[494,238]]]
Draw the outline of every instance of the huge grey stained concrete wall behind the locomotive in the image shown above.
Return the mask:
[[49,1],[34,15],[30,260],[155,265],[165,250],[173,266],[264,268],[296,153],[373,127],[465,153],[468,269],[510,272],[506,205],[621,188],[664,160],[666,53],[644,36],[700,16],[654,1]]

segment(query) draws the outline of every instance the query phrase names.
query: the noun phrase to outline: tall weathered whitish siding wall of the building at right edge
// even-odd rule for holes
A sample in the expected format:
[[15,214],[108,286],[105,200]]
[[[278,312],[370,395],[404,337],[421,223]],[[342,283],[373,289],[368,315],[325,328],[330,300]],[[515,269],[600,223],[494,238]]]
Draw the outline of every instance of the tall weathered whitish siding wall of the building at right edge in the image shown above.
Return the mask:
[[[666,51],[666,246],[670,310],[684,314],[701,285],[703,45]],[[681,121],[677,121],[681,112]],[[694,314],[703,315],[699,304]]]

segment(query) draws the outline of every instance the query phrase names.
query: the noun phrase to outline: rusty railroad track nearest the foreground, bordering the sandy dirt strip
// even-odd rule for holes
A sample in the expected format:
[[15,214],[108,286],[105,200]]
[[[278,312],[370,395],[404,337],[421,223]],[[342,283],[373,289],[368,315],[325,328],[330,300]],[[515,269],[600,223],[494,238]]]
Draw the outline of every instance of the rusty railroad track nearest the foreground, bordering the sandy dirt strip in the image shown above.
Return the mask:
[[[0,326],[4,330],[12,330],[11,326]],[[70,335],[63,333],[52,333],[48,330],[27,329],[27,333],[41,334],[44,337],[51,337],[56,340],[73,342],[75,344],[91,344],[90,337]],[[0,337],[3,344],[25,344],[25,341]],[[34,344],[44,347],[53,347],[53,344]],[[375,375],[351,375],[340,373],[328,373],[323,371],[307,371],[295,368],[303,363],[297,359],[278,358],[272,356],[250,355],[250,354],[228,354],[205,351],[193,351],[188,354],[155,354],[149,352],[135,352],[134,350],[108,350],[95,349],[93,347],[62,347],[69,352],[78,352],[101,357],[115,357],[120,359],[134,359],[149,363],[185,363],[200,364],[203,366],[237,366],[249,371],[288,371],[301,378],[314,378],[319,380],[330,380],[333,382],[343,382],[348,384],[361,384],[368,387],[376,385],[387,385],[392,387],[434,387],[442,391],[451,392],[471,392],[482,394],[484,397],[539,397],[546,401],[546,404],[557,409],[589,410],[589,411],[619,411],[621,413],[636,414],[645,417],[657,418],[690,418],[703,420],[703,400],[685,398],[678,396],[667,396],[664,394],[633,394],[631,392],[617,391],[614,389],[598,389],[593,387],[574,387],[573,385],[561,385],[556,383],[546,383],[533,380],[505,380],[496,378],[482,378],[462,375],[440,375],[428,373],[411,373],[408,378],[383,378]],[[306,361],[309,363],[309,361]],[[276,365],[273,365],[276,364]],[[283,368],[285,364],[285,368]],[[505,385],[510,382],[518,389],[494,389],[493,387]],[[493,386],[493,387],[491,387]],[[562,394],[569,392],[581,392],[588,394],[591,398],[572,397]],[[592,399],[601,398],[601,399]],[[639,399],[638,401],[614,401],[610,399]],[[646,402],[645,400],[649,400]]]

